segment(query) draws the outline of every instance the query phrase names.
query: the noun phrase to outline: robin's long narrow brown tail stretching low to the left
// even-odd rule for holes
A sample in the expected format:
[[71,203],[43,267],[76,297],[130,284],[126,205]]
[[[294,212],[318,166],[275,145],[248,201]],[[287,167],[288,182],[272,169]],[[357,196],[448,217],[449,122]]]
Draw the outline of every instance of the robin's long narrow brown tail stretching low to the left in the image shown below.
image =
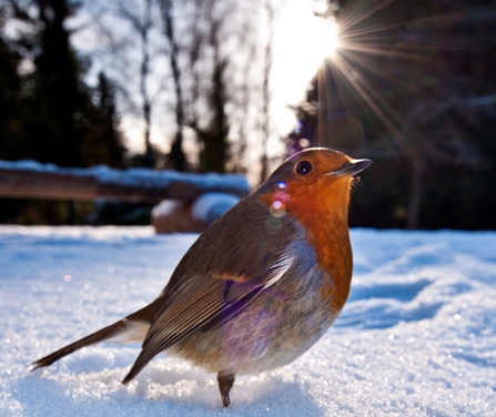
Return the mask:
[[111,338],[119,339],[125,339],[125,337],[120,337],[122,334],[130,330],[132,333],[132,336],[129,338],[129,342],[134,342],[134,335],[136,325],[150,325],[155,317],[158,311],[159,311],[160,302],[159,299],[155,299],[153,303],[149,304],[146,307],[129,315],[125,318],[120,319],[119,322],[103,327],[102,329],[83,337],[82,339],[79,339],[74,343],[71,343],[70,345],[62,347],[61,349],[53,352],[52,354],[42,357],[41,359],[34,360],[31,365],[33,365],[33,368],[31,370],[42,368],[44,366],[50,366],[54,362],[63,358],[64,356],[72,354],[73,352],[81,349],[85,346],[91,346],[100,342],[104,342]]

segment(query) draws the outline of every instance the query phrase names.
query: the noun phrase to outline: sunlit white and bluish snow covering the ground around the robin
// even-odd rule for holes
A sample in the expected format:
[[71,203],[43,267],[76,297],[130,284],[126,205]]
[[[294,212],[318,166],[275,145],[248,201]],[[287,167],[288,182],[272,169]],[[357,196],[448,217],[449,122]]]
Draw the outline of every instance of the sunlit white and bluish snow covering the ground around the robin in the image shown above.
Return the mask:
[[128,386],[139,345],[41,355],[152,301],[195,235],[0,226],[1,416],[494,416],[496,233],[353,230],[350,301],[292,365],[236,380],[165,356]]

